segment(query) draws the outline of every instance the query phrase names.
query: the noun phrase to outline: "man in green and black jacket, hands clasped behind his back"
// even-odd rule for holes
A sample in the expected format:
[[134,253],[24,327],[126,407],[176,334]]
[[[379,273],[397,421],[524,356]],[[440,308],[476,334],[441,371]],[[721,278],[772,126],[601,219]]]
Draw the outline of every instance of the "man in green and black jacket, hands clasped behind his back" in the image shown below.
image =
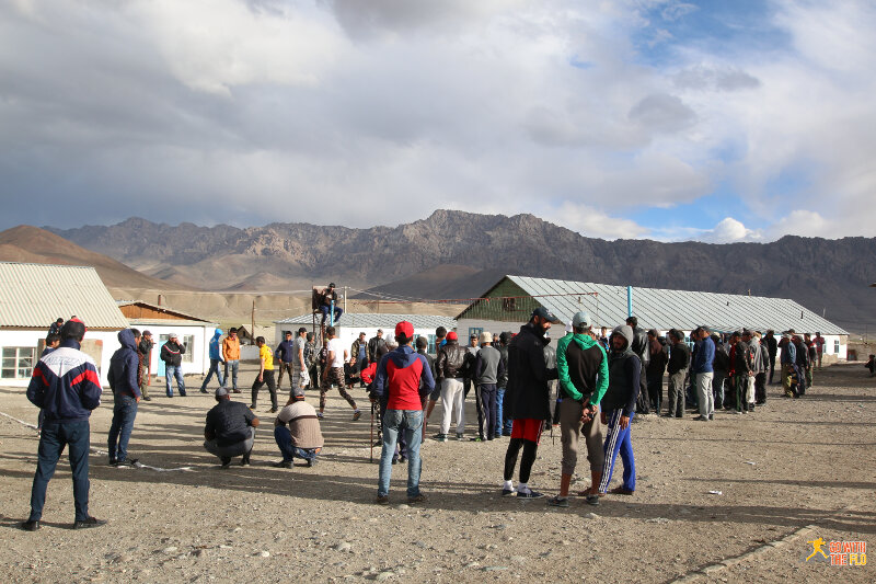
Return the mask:
[[560,435],[563,444],[563,476],[560,494],[548,501],[555,507],[568,506],[568,489],[578,462],[578,438],[584,434],[592,485],[580,495],[591,505],[599,504],[599,482],[606,455],[599,425],[599,402],[609,387],[606,351],[593,339],[590,314],[577,312],[572,332],[556,346],[556,370],[560,377]]

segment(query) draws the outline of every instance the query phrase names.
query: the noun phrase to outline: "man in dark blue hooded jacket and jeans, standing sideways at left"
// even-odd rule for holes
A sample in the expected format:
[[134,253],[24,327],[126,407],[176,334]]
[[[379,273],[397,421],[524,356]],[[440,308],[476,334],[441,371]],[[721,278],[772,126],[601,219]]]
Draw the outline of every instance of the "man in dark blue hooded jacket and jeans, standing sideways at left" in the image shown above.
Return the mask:
[[110,465],[132,466],[137,460],[128,460],[128,440],[134,430],[134,419],[137,417],[137,404],[140,402],[140,385],[137,370],[140,357],[137,355],[137,345],[140,343],[140,331],[125,329],[118,333],[122,348],[113,353],[110,359],[110,370],[106,374],[110,388],[113,390],[113,423],[110,425],[107,448]]

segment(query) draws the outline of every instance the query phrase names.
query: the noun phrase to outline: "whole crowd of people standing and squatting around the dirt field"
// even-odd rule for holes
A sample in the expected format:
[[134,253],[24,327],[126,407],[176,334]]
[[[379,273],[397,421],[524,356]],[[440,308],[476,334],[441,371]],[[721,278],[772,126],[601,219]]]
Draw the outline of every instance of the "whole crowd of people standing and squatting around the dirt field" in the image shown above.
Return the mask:
[[[736,414],[753,412],[766,401],[766,385],[773,383],[776,359],[780,381],[787,398],[805,396],[812,387],[814,370],[821,367],[825,340],[820,333],[810,337],[794,330],[776,339],[774,331],[742,329],[729,334],[699,327],[685,333],[670,330],[666,337],[656,330],[645,331],[637,319],[625,324],[593,331],[587,312],[576,313],[566,325],[556,346],[550,329],[562,324],[550,310],[537,308],[519,331],[472,334],[461,346],[454,331],[436,330],[436,352],[427,353],[426,339],[415,337],[410,322],[399,322],[394,337],[383,339],[383,331],[366,341],[360,333],[349,351],[336,336],[334,327],[324,329],[322,347],[312,333],[300,328],[297,334],[284,331],[284,340],[272,351],[258,336],[258,373],[252,385],[249,408],[231,400],[238,389],[240,341],[231,329],[223,339],[216,329],[209,342],[209,371],[200,391],[216,376],[217,404],[207,413],[204,427],[205,449],[228,468],[240,456],[250,463],[260,420],[260,389],[267,385],[272,400],[269,412],[277,413],[274,438],[281,459],[274,466],[291,468],[295,458],[306,466],[316,463],[323,448],[320,421],[325,415],[326,393],[337,388],[354,410],[353,421],[361,416],[347,388],[358,381],[368,389],[372,422],[378,419],[378,445],[381,446],[377,503],[389,503],[392,466],[407,465],[407,501],[426,500],[419,490],[422,460],[419,448],[428,420],[438,402],[442,415],[433,438],[447,442],[451,425],[457,439],[465,439],[465,399],[474,390],[477,434],[470,439],[486,442],[509,437],[504,459],[502,495],[541,499],[529,480],[537,459],[542,432],[560,426],[562,472],[558,494],[549,505],[566,507],[578,459],[581,438],[590,465],[590,486],[577,494],[591,505],[607,493],[635,493],[635,457],[631,424],[636,415],[649,413],[682,417],[688,408],[699,413],[695,420],[712,421],[716,410]],[[62,450],[69,448],[73,479],[77,529],[96,527],[88,511],[89,443],[91,411],[101,402],[102,389],[94,360],[80,351],[85,334],[77,318],[59,319],[46,339],[46,350],[34,367],[27,399],[41,409],[39,450],[34,476],[31,514],[22,526],[39,528],[46,488]],[[107,436],[108,463],[137,466],[128,457],[128,443],[140,400],[147,393],[146,363],[154,346],[151,333],[126,329],[118,333],[120,348],[111,358],[107,379],[113,393],[113,421]],[[165,363],[166,396],[173,397],[176,380],[180,396],[185,396],[181,355],[186,351],[176,334],[168,335],[160,358]],[[871,356],[868,366],[876,370]],[[275,380],[275,362],[279,377]],[[664,378],[668,374],[666,408]],[[289,398],[280,410],[277,391],[287,375]],[[231,388],[228,381],[231,379]],[[319,411],[306,401],[306,391],[319,388]],[[602,426],[606,426],[603,438]],[[623,463],[623,479],[609,491],[616,458]],[[518,483],[514,473],[519,459]]]

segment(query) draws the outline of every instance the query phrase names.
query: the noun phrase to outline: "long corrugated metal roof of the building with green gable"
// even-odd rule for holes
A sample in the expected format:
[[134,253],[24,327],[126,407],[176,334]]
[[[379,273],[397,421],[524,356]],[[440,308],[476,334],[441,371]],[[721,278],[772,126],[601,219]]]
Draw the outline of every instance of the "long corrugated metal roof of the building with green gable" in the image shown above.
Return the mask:
[[[579,310],[588,311],[597,327],[612,328],[626,320],[625,286],[507,277],[528,295],[538,297],[542,306],[564,322],[572,321]],[[692,330],[705,324],[716,331],[735,331],[747,327],[759,331],[794,329],[800,333],[849,334],[786,298],[634,287],[633,314],[638,319],[639,327],[664,331],[672,328]]]

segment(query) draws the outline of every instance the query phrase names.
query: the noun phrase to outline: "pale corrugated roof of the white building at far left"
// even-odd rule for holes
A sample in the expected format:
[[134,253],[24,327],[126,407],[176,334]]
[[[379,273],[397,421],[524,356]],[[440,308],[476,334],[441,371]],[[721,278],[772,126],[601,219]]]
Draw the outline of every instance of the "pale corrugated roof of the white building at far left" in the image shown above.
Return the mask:
[[45,328],[76,314],[89,329],[127,329],[90,266],[0,262],[0,327]]

